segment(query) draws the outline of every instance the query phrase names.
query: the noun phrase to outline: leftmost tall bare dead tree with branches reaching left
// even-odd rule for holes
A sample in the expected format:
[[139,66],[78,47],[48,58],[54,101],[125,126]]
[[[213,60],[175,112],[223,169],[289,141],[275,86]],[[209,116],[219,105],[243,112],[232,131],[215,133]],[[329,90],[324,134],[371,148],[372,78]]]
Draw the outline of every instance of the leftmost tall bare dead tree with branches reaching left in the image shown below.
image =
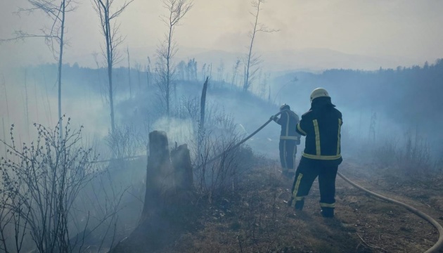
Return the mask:
[[[32,34],[23,30],[15,31],[15,36],[12,39],[3,39],[1,41],[17,41],[28,38],[43,38],[46,45],[51,48],[54,58],[58,60],[58,120],[62,119],[61,110],[61,80],[62,80],[62,66],[63,66],[63,49],[65,48],[65,18],[66,14],[75,11],[75,1],[72,0],[27,0],[31,4],[30,8],[19,8],[20,13],[33,13],[34,11],[41,11],[46,14],[51,20],[49,27],[41,28],[40,34]],[[63,129],[60,127],[60,136],[63,134]]]

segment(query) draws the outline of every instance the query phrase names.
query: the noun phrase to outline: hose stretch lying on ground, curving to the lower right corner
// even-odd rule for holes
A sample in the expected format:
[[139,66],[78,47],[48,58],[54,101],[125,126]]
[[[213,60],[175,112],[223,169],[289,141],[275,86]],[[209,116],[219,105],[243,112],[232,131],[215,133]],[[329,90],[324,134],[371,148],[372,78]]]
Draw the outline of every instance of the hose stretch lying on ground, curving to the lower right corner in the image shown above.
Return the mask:
[[391,198],[385,197],[385,196],[380,195],[378,193],[373,193],[373,192],[371,192],[371,190],[366,190],[365,188],[359,186],[357,183],[354,183],[354,182],[350,181],[349,179],[347,179],[347,177],[343,176],[340,172],[338,172],[337,174],[338,174],[338,176],[340,176],[342,179],[347,181],[347,183],[350,183],[355,188],[359,188],[360,190],[363,190],[364,192],[369,193],[370,195],[378,197],[378,198],[380,198],[382,200],[386,200],[387,202],[391,202],[391,203],[394,203],[394,204],[397,204],[397,205],[401,205],[402,207],[408,209],[410,212],[413,212],[413,214],[416,214],[416,215],[420,216],[422,219],[425,219],[426,221],[431,223],[432,226],[435,226],[435,228],[437,228],[437,231],[439,233],[439,239],[437,240],[435,245],[430,247],[430,249],[426,250],[425,253],[438,252],[439,249],[442,248],[442,245],[443,245],[443,227],[437,221],[435,221],[435,219],[432,219],[432,217],[430,217],[428,214],[425,214],[425,213],[421,212],[420,210],[418,210],[418,209],[416,209],[414,207],[411,207],[410,205],[406,205],[403,202],[399,202],[397,200],[392,200]]

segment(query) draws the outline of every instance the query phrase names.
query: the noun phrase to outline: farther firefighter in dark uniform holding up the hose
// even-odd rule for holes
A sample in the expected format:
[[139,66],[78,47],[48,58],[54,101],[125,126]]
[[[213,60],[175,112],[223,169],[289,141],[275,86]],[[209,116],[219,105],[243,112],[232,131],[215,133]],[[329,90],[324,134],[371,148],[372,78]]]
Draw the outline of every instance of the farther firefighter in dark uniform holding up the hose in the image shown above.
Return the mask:
[[283,175],[294,176],[295,155],[297,154],[297,145],[300,144],[300,134],[295,131],[299,119],[295,112],[290,110],[289,105],[281,105],[280,111],[280,118],[271,116],[271,119],[281,125],[280,143],[278,144],[281,167]]

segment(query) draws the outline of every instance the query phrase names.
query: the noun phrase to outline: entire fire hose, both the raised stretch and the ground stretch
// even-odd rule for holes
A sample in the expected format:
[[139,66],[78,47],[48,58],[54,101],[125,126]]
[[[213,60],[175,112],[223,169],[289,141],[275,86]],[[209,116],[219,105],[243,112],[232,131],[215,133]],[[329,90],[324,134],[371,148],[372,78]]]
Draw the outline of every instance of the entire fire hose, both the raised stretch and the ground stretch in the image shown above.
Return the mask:
[[[278,115],[281,115],[282,112],[284,112],[285,110],[282,110],[281,112],[278,112],[276,115],[274,115],[274,117],[277,117]],[[221,157],[221,155],[224,155],[225,153],[238,148],[238,146],[240,146],[241,144],[245,143],[245,141],[248,141],[249,138],[251,138],[252,136],[254,136],[255,134],[257,134],[260,130],[262,130],[264,128],[264,126],[267,126],[267,124],[269,124],[269,122],[272,121],[272,118],[269,119],[266,123],[264,123],[262,126],[260,126],[256,131],[254,131],[252,134],[250,134],[249,136],[247,136],[246,138],[244,138],[242,141],[240,141],[239,143],[237,143],[236,145],[233,145],[231,148],[225,150],[223,153],[217,155],[216,157],[213,157],[211,160],[209,160],[208,162],[212,162],[214,160],[216,160],[217,158]],[[425,214],[423,212],[421,212],[420,210],[411,207],[410,205],[406,205],[403,202],[399,202],[398,200],[392,200],[389,197],[385,197],[383,195],[380,195],[378,193],[373,193],[371,190],[367,190],[366,188],[363,188],[361,186],[359,186],[357,183],[354,183],[353,181],[350,181],[349,179],[347,179],[347,177],[343,176],[340,172],[337,172],[338,176],[340,176],[343,180],[347,181],[347,183],[350,183],[352,186],[354,186],[355,188],[358,188],[360,190],[363,190],[364,192],[368,193],[369,195],[372,195],[374,197],[378,197],[381,200],[385,200],[387,202],[391,202],[394,203],[396,205],[400,205],[406,209],[408,209],[410,212],[412,212],[413,214],[416,214],[417,216],[419,216],[422,219],[425,219],[425,221],[428,221],[429,223],[431,223],[432,226],[434,226],[435,228],[437,228],[437,231],[439,233],[439,238],[437,240],[437,242],[435,242],[435,244],[430,247],[428,250],[425,251],[425,253],[435,253],[438,252],[439,249],[443,249],[443,227],[442,225],[440,225],[437,221],[435,221],[435,219],[432,219],[431,216],[429,216],[428,214]]]

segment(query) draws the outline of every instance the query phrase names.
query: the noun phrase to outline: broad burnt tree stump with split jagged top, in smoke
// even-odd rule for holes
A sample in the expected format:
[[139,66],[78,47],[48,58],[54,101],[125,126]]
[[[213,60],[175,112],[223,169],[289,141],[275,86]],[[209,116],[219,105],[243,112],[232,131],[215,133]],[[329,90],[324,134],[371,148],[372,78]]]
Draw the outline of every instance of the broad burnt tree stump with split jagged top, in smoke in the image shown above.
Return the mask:
[[193,224],[198,213],[189,205],[194,200],[192,186],[188,146],[180,145],[169,155],[166,133],[150,132],[146,195],[139,226],[112,252],[155,252],[177,240]]

